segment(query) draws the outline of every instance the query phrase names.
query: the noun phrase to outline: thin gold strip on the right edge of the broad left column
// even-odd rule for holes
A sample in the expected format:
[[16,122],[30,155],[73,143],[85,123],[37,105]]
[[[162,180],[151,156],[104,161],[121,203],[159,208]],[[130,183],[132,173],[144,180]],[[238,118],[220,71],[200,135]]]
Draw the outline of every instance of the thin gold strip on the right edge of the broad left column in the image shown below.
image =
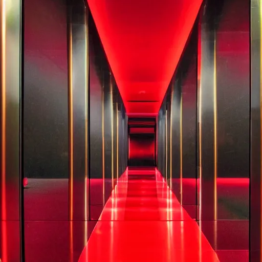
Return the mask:
[[86,19],[86,13],[84,16],[85,21],[85,172],[84,172],[84,245],[86,242],[88,242],[88,198],[89,198],[89,192],[88,192],[88,99],[89,99],[89,83],[88,83],[88,77],[89,77],[89,45],[88,45],[88,20]]

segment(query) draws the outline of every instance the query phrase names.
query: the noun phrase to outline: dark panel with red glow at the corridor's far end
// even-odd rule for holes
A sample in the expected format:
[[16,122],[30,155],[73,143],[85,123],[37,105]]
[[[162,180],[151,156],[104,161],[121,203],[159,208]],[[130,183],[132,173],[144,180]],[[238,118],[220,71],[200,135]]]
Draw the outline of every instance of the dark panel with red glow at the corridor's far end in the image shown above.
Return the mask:
[[155,164],[155,134],[129,134],[129,165]]

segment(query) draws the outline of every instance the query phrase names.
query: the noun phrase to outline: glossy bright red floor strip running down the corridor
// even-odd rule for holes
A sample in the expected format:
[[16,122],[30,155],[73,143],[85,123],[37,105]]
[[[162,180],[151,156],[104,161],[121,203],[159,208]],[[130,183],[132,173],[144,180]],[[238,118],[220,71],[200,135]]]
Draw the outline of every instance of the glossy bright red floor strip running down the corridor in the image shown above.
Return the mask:
[[219,261],[159,171],[126,171],[79,262]]

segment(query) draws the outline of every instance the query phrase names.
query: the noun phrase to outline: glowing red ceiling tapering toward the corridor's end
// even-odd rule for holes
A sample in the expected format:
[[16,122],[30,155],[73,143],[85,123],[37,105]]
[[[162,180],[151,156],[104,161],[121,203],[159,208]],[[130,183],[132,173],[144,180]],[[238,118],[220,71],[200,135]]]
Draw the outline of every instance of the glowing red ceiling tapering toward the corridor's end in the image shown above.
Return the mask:
[[202,0],[88,3],[127,113],[158,113]]

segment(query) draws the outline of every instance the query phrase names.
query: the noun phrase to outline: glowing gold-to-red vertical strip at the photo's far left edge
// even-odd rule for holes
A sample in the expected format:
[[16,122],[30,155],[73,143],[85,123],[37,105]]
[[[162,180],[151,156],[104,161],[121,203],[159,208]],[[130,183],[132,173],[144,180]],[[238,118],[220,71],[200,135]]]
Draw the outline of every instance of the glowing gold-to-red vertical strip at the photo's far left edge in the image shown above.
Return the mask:
[[2,259],[8,261],[7,254],[7,228],[6,228],[6,0],[2,0],[2,148],[1,148],[1,178],[2,178]]

